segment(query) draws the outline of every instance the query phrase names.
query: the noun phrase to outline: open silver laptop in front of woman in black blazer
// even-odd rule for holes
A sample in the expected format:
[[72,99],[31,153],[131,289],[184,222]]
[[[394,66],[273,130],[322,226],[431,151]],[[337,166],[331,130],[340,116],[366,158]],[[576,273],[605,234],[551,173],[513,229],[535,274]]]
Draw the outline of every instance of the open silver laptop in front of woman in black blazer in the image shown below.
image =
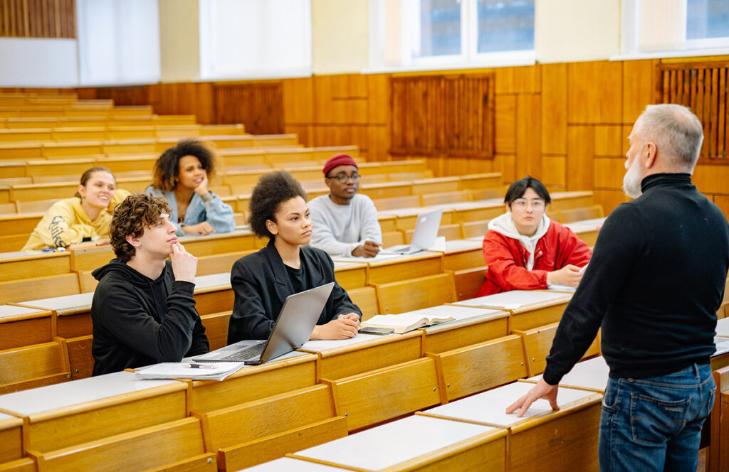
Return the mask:
[[192,358],[195,362],[238,361],[257,365],[290,353],[311,337],[334,282],[286,297],[268,340],[246,340]]

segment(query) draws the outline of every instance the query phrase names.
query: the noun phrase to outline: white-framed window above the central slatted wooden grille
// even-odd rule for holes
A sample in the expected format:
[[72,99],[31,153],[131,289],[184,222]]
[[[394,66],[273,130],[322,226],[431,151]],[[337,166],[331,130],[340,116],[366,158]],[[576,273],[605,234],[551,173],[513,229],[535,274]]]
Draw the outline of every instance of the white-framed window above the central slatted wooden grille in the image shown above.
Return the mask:
[[534,0],[370,0],[370,66],[534,63]]

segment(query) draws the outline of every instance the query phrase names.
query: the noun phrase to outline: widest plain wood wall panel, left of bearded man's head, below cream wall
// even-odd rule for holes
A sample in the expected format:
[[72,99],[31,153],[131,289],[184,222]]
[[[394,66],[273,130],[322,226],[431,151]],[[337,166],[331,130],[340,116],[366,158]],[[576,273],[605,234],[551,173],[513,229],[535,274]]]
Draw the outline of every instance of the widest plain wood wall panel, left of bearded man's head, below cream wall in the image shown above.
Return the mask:
[[607,60],[567,66],[568,122],[618,124],[623,117],[623,63]]

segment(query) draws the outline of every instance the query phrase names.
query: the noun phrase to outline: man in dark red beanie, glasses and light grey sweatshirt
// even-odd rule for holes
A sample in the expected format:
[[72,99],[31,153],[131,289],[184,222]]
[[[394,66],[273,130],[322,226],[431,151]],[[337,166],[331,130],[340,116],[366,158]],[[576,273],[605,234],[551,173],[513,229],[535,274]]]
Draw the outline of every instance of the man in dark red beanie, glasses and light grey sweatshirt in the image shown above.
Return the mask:
[[324,164],[330,194],[309,202],[310,245],[330,256],[374,257],[380,252],[382,230],[375,204],[358,194],[359,168],[348,154],[335,154]]

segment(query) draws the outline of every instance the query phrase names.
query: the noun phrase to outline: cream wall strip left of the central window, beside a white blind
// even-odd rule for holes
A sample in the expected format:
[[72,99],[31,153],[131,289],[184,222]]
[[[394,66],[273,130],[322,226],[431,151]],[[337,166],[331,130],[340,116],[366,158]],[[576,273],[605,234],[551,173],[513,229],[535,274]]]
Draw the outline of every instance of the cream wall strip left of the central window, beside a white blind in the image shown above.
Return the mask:
[[367,68],[369,16],[367,0],[311,0],[314,74],[346,74]]

